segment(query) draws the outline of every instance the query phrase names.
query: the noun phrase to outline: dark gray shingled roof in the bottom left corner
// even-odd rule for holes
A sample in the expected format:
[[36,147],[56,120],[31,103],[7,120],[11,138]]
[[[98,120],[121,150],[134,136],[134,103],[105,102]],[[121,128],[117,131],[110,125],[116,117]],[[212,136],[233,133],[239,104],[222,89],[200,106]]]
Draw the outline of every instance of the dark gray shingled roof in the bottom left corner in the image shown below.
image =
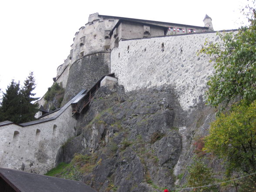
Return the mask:
[[0,168],[3,178],[16,192],[97,192],[80,181]]

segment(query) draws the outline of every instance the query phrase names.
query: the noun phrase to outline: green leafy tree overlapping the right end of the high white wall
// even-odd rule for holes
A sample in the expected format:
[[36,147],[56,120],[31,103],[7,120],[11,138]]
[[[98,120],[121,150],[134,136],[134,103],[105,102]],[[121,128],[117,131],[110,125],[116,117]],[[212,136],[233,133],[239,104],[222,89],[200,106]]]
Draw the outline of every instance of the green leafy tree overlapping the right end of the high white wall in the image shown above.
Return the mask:
[[249,10],[249,27],[241,27],[237,33],[217,33],[221,43],[208,44],[200,51],[215,61],[216,72],[208,81],[207,91],[212,106],[224,109],[230,101],[243,99],[249,104],[256,99],[256,10]]

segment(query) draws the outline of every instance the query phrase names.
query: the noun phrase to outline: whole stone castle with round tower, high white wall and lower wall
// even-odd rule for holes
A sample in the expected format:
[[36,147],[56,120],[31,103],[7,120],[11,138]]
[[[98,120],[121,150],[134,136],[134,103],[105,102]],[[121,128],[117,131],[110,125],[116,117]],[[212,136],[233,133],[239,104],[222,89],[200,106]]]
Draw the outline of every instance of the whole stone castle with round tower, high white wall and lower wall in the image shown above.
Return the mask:
[[63,107],[37,121],[1,122],[0,167],[40,174],[54,168],[61,146],[77,127],[72,104],[106,74],[115,73],[126,91],[170,85],[182,109],[193,110],[213,71],[209,57],[196,54],[206,38],[219,41],[211,20],[206,15],[205,26],[198,27],[91,14],[54,77],[65,88]]

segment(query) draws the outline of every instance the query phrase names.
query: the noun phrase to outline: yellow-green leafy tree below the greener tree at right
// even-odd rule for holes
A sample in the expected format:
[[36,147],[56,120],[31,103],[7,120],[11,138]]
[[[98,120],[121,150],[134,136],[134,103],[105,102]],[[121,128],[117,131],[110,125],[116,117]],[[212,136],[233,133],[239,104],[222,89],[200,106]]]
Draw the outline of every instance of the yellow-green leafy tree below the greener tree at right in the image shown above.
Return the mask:
[[204,150],[222,158],[229,171],[256,172],[256,101],[219,115],[205,137]]

